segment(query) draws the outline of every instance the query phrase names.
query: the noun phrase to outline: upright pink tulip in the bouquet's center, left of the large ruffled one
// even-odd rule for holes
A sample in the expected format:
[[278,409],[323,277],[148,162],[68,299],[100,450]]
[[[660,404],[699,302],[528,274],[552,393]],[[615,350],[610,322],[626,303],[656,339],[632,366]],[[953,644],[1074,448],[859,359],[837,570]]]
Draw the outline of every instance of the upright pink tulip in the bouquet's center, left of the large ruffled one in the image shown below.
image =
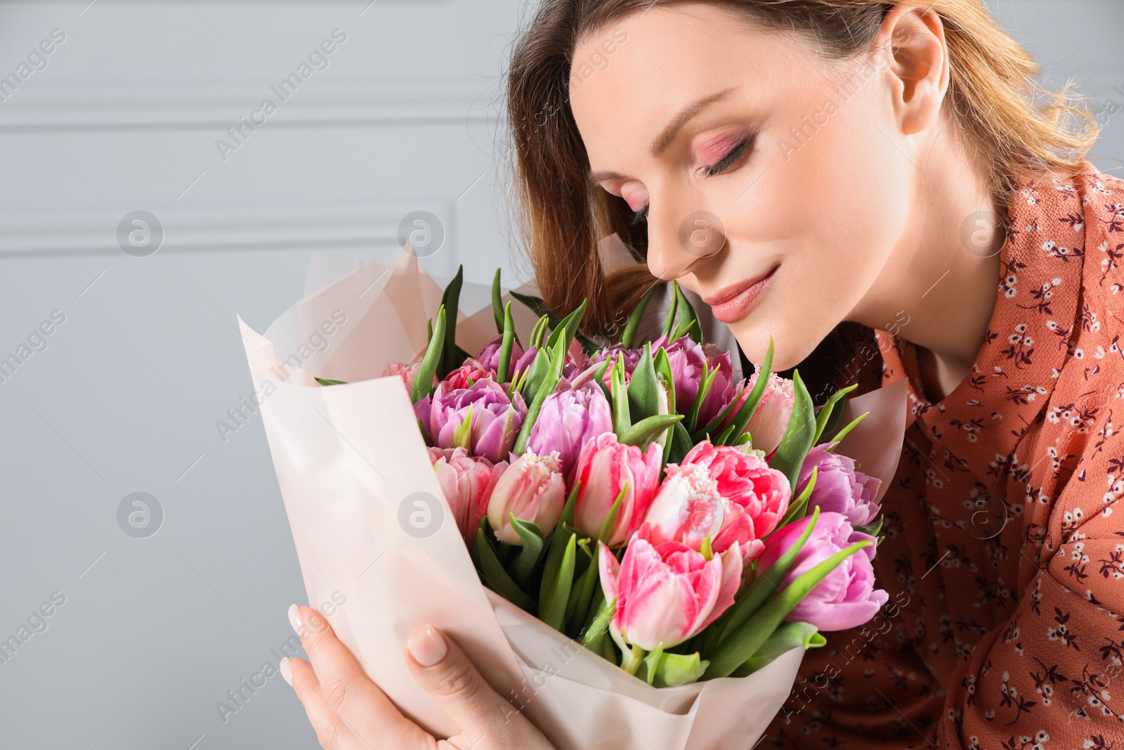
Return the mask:
[[624,498],[609,534],[608,545],[620,546],[640,528],[660,481],[663,449],[651,443],[641,453],[635,445],[622,445],[609,432],[587,442],[578,454],[574,481],[581,482],[574,501],[574,524],[593,539],[608,518],[620,490]]

